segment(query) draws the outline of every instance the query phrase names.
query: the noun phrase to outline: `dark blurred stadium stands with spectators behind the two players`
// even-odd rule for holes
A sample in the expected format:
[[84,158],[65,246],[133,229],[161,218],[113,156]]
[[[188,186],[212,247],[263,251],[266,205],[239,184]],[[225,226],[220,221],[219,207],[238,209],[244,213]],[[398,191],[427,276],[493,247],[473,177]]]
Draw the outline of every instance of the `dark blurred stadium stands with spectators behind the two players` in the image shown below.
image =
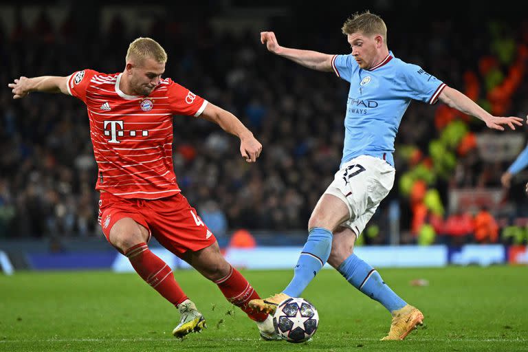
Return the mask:
[[[257,245],[300,245],[309,214],[342,153],[348,85],[265,50],[261,30],[282,45],[347,53],[340,32],[354,11],[388,25],[388,47],[463,91],[496,115],[528,113],[528,23],[507,3],[420,1],[127,1],[3,3],[0,80],[120,72],[129,43],[151,36],[168,52],[165,76],[232,111],[263,143],[248,165],[236,138],[202,120],[175,117],[174,164],[184,195],[219,238],[248,230]],[[0,91],[0,243],[13,256],[28,248],[106,248],[96,224],[96,164],[80,100]],[[395,142],[397,179],[359,244],[527,242],[520,173],[509,190],[500,175],[524,148],[527,127],[488,131],[441,104],[413,102]],[[475,236],[475,216],[489,235]],[[482,222],[482,221],[481,221]],[[496,226],[494,225],[496,223]],[[494,230],[495,228],[495,230]],[[242,236],[243,238],[243,236]],[[72,244],[74,243],[74,244]],[[106,248],[108,249],[108,248]],[[14,261],[17,261],[14,259]]]

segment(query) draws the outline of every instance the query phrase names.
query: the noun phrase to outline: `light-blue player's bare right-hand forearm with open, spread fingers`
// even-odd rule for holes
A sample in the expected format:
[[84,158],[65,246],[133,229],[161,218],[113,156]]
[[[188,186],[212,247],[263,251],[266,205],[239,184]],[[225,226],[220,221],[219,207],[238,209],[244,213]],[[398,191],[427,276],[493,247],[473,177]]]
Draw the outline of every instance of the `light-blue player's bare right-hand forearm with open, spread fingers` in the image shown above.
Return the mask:
[[472,115],[480,120],[483,120],[490,129],[498,129],[504,131],[502,125],[508,125],[510,129],[515,129],[515,125],[522,126],[522,118],[516,118],[510,116],[509,118],[503,118],[500,116],[494,116],[482,109],[470,98],[467,98],[464,94],[451,87],[445,87],[439,96],[439,100],[448,106]]

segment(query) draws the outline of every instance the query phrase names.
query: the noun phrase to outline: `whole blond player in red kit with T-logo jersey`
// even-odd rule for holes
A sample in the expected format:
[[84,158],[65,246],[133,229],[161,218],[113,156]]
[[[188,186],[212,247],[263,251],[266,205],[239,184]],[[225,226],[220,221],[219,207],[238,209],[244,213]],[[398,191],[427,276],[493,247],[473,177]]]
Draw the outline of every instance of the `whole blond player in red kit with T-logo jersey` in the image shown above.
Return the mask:
[[230,303],[256,321],[264,339],[274,340],[278,337],[271,317],[248,307],[258,294],[225,261],[214,234],[181,195],[173,170],[173,115],[219,124],[240,138],[240,153],[246,162],[255,162],[262,146],[232,113],[162,78],[166,61],[161,45],[138,38],[129,46],[122,73],[83,69],[67,77],[21,77],[8,86],[14,99],[43,91],[85,102],[98,165],[102,231],[128,257],[137,274],[179,309],[181,320],[174,336],[200,331],[206,321],[170,267],[148,249],[151,236],[216,283]]

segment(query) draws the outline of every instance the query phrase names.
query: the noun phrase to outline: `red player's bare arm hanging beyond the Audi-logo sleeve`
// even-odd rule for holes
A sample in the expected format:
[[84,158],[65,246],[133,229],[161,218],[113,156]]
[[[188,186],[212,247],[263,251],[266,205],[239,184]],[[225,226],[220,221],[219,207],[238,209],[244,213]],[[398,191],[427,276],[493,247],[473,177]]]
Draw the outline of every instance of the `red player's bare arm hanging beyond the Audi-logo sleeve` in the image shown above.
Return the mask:
[[235,115],[208,102],[206,109],[199,116],[218,124],[223,131],[240,138],[240,153],[246,162],[256,162],[261,155],[262,144]]

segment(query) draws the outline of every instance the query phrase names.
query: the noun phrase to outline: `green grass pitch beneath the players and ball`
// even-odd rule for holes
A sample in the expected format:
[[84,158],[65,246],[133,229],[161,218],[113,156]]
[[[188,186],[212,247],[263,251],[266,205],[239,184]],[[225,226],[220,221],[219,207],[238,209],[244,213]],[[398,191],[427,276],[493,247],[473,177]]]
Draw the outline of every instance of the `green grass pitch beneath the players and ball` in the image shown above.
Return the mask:
[[[261,296],[279,292],[292,277],[292,270],[242,272]],[[170,334],[177,310],[135,274],[0,275],[0,351],[528,351],[528,267],[380,273],[425,316],[405,341],[379,341],[388,312],[333,270],[322,270],[305,291],[320,326],[304,344],[261,340],[254,323],[194,271],[175,276],[208,329],[184,340]],[[417,278],[429,285],[411,286]]]

